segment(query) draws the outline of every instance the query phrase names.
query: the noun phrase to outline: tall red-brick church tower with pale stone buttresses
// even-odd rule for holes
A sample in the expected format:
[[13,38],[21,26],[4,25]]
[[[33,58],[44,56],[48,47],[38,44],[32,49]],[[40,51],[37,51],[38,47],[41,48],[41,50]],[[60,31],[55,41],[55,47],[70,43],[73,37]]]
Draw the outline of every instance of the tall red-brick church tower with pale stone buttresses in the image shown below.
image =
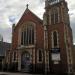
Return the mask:
[[65,0],[45,0],[44,55],[45,72],[72,73],[72,29]]

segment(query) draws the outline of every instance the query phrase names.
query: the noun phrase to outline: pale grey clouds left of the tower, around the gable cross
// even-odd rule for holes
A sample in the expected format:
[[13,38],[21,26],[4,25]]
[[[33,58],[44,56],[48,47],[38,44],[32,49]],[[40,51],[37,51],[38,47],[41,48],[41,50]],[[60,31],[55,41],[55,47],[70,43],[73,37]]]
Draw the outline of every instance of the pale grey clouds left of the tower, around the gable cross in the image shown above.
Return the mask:
[[0,0],[0,34],[3,35],[4,41],[11,42],[12,23],[18,22],[26,9],[26,4],[29,4],[29,9],[42,17],[43,12],[37,11],[38,7],[43,9],[40,0]]

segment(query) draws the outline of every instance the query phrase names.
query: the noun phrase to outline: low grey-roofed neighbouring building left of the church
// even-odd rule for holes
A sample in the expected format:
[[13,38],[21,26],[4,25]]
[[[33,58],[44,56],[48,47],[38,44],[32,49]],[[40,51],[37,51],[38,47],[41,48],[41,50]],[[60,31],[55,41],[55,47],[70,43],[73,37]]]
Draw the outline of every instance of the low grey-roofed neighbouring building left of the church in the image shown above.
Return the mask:
[[11,49],[11,43],[3,42],[3,37],[0,35],[0,70],[6,68],[6,51]]

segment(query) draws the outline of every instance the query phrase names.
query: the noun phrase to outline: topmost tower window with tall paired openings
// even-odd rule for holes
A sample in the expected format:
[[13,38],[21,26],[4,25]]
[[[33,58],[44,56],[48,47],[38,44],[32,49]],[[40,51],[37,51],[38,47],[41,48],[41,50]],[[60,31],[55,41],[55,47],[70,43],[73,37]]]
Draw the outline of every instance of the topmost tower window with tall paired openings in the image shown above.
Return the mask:
[[59,10],[58,8],[53,8],[51,10],[51,24],[56,24],[59,21]]

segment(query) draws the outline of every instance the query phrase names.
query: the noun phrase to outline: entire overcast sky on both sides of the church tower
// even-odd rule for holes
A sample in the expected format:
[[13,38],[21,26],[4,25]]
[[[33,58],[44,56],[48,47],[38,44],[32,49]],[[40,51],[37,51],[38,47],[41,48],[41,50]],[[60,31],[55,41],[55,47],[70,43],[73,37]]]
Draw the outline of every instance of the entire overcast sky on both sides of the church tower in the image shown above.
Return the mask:
[[[70,25],[75,43],[75,0],[66,0],[69,7]],[[42,18],[44,13],[43,0],[0,0],[0,34],[5,42],[11,42],[13,23],[17,23],[29,4],[29,9]]]

